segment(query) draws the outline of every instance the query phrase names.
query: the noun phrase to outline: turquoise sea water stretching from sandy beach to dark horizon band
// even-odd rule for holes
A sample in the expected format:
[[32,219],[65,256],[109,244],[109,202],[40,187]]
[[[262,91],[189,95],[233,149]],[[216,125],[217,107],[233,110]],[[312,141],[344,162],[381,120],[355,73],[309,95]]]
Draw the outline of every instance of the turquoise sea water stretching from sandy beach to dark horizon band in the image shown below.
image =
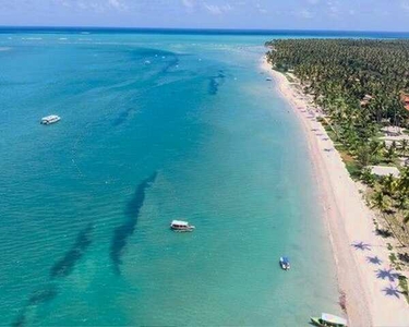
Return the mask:
[[340,313],[300,124],[258,68],[272,37],[0,34],[0,325]]

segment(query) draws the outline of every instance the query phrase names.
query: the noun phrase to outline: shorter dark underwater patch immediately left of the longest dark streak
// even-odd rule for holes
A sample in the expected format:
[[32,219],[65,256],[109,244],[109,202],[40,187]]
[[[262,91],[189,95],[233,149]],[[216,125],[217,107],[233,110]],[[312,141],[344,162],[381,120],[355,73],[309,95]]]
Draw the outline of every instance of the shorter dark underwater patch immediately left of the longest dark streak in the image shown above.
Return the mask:
[[93,229],[93,225],[89,223],[79,233],[71,250],[52,266],[50,270],[51,278],[67,277],[72,274],[76,263],[83,257],[85,251],[92,244],[91,234]]

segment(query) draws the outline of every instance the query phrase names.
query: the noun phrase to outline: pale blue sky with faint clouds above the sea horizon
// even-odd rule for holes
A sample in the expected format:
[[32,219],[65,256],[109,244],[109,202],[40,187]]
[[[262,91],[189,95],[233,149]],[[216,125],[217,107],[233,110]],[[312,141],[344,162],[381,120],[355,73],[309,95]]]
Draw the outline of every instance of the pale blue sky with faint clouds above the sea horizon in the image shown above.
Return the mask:
[[409,32],[409,0],[0,0],[0,25]]

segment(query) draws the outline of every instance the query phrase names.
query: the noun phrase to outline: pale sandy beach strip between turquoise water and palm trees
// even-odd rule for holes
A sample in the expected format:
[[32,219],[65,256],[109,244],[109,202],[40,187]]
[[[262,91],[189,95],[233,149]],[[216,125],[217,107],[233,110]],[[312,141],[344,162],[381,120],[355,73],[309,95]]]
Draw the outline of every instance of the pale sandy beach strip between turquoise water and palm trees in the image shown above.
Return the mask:
[[386,242],[375,235],[373,213],[365,206],[325,129],[316,121],[316,112],[306,110],[308,104],[297,96],[287,77],[273,71],[264,58],[261,68],[274,78],[304,130],[333,245],[339,291],[346,294],[349,326],[409,326],[409,306],[401,294],[393,292],[398,280],[390,278],[394,271]]

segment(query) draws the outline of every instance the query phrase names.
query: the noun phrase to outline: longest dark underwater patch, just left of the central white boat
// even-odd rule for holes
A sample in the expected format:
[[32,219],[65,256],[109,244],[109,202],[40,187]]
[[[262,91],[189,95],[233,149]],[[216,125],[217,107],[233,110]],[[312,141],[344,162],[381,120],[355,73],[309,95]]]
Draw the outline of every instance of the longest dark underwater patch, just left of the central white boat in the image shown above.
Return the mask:
[[153,173],[147,179],[143,180],[136,187],[132,199],[128,203],[125,208],[127,221],[117,227],[113,231],[113,237],[110,247],[110,257],[113,263],[116,274],[121,274],[120,265],[122,264],[121,256],[127,246],[128,239],[134,233],[137,219],[145,201],[146,190],[155,182],[157,172]]

